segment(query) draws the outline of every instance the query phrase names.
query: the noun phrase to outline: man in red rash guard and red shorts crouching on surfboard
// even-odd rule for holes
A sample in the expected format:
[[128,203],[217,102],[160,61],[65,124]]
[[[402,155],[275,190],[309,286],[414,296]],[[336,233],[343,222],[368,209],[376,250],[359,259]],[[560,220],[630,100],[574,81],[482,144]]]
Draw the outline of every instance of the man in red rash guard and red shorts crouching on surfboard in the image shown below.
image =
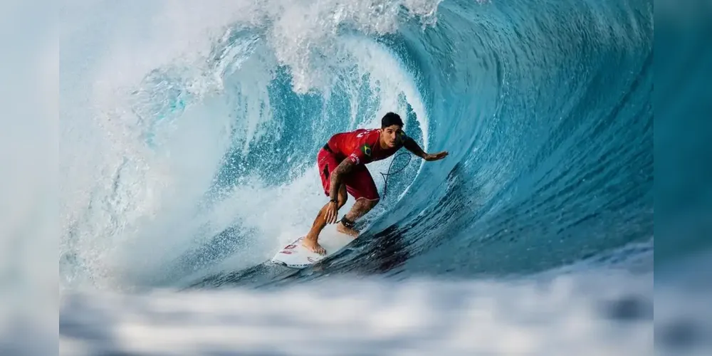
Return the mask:
[[398,114],[388,112],[381,119],[380,129],[358,129],[333,135],[319,150],[317,162],[324,194],[330,200],[321,208],[302,244],[310,251],[325,254],[319,245],[319,234],[326,224],[336,223],[339,209],[346,204],[347,193],[356,199],[351,211],[343,216],[336,226],[337,231],[357,237],[354,229],[357,219],[378,204],[376,184],[366,164],[392,156],[405,147],[426,161],[443,159],[448,152],[434,155],[424,152],[419,145],[403,132],[403,120]]

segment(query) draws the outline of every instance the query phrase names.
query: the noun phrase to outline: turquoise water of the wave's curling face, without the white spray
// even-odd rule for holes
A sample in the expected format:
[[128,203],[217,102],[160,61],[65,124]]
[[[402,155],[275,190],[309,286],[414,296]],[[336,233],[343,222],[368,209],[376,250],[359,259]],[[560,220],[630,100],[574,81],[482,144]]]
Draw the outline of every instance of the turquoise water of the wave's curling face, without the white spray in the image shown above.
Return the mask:
[[[247,149],[230,147],[211,192],[245,177],[290,184],[313,169],[333,132],[377,125],[394,110],[407,117],[409,135],[450,156],[397,159],[394,166],[407,167],[389,177],[387,196],[367,216],[367,239],[330,273],[525,274],[627,244],[649,242],[650,250],[651,4],[444,1],[436,14],[424,26],[401,12],[398,30],[385,34],[342,23],[322,50],[330,55],[314,60],[326,83],[323,73],[273,68],[259,101],[272,110],[264,133]],[[220,51],[255,32],[234,30]],[[240,88],[224,98],[250,99],[241,75],[224,78]],[[311,91],[295,93],[300,78],[313,80]],[[235,110],[236,120],[248,120],[244,113]],[[382,189],[378,173],[387,166],[370,169]],[[183,263],[248,239],[234,237],[243,234],[239,224],[229,234]]]

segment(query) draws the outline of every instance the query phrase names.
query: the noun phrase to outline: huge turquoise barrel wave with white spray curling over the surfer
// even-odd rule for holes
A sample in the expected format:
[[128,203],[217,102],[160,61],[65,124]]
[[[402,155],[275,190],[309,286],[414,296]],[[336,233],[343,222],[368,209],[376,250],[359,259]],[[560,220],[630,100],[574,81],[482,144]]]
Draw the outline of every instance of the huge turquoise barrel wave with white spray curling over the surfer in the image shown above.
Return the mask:
[[[76,19],[61,38],[60,277],[75,301],[85,286],[286,300],[349,278],[377,290],[426,281],[423,293],[452,298],[622,267],[612,289],[635,285],[646,309],[651,1],[110,6],[67,11]],[[370,164],[382,199],[350,251],[302,271],[266,263],[328,200],[319,147],[389,111],[427,152],[449,156]],[[459,289],[467,283],[483,284]],[[361,298],[391,298],[369,288]],[[591,342],[645,354],[644,324],[627,341]]]

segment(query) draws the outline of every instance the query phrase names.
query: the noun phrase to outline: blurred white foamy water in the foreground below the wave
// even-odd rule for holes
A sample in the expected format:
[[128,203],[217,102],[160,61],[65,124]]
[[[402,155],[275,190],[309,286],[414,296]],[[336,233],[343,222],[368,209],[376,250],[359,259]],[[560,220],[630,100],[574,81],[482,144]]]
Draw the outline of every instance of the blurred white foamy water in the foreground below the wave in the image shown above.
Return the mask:
[[651,355],[652,275],[63,295],[61,355]]

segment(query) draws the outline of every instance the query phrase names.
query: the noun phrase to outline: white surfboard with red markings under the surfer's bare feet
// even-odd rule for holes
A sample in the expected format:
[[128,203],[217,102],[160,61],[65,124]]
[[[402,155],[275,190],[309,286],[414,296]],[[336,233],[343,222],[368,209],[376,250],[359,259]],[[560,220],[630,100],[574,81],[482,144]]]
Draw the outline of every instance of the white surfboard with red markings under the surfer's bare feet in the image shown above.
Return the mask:
[[302,245],[305,236],[295,239],[281,248],[271,259],[272,263],[290,268],[305,268],[317,263],[324,258],[341,252],[348,244],[355,240],[354,237],[341,234],[335,229],[324,229],[319,235],[319,244],[326,250],[324,255],[312,252]]

